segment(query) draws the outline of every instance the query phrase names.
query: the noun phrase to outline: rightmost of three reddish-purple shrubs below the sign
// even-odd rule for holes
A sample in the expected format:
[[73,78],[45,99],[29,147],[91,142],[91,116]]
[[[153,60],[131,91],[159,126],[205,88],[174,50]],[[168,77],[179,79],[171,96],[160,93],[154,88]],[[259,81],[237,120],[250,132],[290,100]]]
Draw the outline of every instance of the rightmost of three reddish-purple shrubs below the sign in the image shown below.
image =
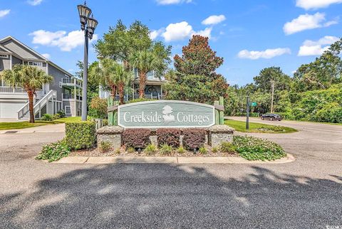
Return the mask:
[[183,130],[183,145],[185,149],[194,150],[204,146],[204,129],[185,129]]

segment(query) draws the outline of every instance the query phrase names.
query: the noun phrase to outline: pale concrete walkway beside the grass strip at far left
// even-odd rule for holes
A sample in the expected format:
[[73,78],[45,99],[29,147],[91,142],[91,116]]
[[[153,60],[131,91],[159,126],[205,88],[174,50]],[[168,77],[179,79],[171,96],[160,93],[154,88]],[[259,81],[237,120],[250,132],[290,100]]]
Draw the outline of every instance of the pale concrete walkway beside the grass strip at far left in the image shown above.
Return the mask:
[[0,134],[27,134],[27,133],[49,133],[49,132],[64,132],[65,124],[48,124],[40,127],[31,127],[25,129],[4,129],[0,130]]

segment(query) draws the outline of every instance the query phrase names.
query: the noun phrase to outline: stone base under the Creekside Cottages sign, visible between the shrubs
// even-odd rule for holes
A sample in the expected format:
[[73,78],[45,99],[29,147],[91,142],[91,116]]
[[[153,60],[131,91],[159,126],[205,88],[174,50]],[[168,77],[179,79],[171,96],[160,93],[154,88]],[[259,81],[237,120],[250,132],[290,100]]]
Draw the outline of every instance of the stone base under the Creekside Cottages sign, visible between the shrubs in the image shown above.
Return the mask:
[[[102,127],[97,131],[98,145],[100,142],[110,142],[112,148],[120,149],[123,144],[124,128],[119,126]],[[205,144],[209,144],[211,147],[219,147],[222,142],[232,142],[234,129],[226,125],[214,125],[207,129],[205,137]],[[157,145],[157,136],[150,136],[150,142]],[[180,142],[182,144],[182,135],[180,136]]]

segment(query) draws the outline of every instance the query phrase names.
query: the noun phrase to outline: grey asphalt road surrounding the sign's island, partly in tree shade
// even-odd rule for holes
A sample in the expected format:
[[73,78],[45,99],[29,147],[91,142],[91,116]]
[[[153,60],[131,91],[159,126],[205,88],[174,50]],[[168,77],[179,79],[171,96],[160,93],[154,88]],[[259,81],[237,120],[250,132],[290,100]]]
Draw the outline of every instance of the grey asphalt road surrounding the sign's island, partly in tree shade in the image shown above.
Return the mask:
[[342,227],[342,126],[253,134],[289,164],[47,164],[61,132],[0,134],[0,228]]

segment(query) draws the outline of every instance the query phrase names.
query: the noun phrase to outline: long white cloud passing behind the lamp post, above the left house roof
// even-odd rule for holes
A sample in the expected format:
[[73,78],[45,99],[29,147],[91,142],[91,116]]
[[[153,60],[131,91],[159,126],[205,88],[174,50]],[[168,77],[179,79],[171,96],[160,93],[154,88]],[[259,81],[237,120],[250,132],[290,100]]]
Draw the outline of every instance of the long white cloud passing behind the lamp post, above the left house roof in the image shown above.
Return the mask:
[[[50,32],[39,30],[29,35],[33,36],[32,43],[34,44],[56,46],[61,48],[62,51],[71,51],[73,48],[82,46],[84,42],[83,31],[71,31],[67,34],[66,31]],[[96,41],[97,39],[98,35],[94,34],[92,41]]]

